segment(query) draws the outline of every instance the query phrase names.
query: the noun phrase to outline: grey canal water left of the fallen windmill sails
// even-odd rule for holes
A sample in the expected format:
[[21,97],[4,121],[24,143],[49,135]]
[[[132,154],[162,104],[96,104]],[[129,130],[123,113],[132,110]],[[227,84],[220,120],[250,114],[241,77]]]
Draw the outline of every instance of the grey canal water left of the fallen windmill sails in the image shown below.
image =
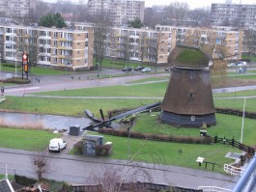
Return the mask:
[[81,128],[84,128],[90,123],[92,121],[87,118],[0,112],[0,124],[2,126],[69,130],[71,125],[80,125]]

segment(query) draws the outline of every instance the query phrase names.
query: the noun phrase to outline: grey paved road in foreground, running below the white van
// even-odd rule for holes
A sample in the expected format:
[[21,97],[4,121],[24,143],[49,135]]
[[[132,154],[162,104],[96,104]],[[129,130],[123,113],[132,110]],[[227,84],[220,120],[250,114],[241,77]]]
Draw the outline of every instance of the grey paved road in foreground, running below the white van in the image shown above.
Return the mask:
[[[9,174],[36,177],[33,165],[35,152],[0,149],[0,173],[4,174],[5,165],[8,165]],[[17,163],[18,159],[18,163]],[[213,174],[202,170],[192,170],[174,166],[153,165],[146,163],[133,163],[128,168],[127,161],[111,160],[107,158],[90,158],[83,156],[67,155],[65,153],[50,153],[50,164],[45,178],[66,180],[70,183],[93,183],[93,173],[100,173],[105,168],[118,169],[123,177],[129,169],[132,175],[138,169],[147,170],[156,183],[171,184],[190,188],[198,186],[218,186],[232,189],[239,178]],[[194,160],[194,159],[193,159]],[[196,162],[195,162],[196,163]],[[142,173],[142,172],[140,172]],[[138,175],[138,174],[137,174]],[[149,181],[147,178],[139,177],[140,181]]]

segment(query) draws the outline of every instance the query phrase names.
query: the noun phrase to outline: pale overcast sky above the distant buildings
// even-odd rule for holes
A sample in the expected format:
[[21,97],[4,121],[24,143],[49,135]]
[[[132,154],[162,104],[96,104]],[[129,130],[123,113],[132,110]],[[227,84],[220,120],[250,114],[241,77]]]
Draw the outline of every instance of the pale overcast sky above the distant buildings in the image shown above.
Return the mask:
[[[54,2],[57,0],[44,0],[47,2]],[[77,3],[78,0],[71,0],[74,3]],[[87,2],[87,0],[84,0]],[[186,2],[190,9],[195,8],[204,8],[211,7],[212,3],[225,3],[226,0],[145,0],[146,7],[152,7],[153,5],[169,5],[171,2]],[[239,4],[242,1],[242,4],[256,4],[255,0],[232,0],[233,3]]]

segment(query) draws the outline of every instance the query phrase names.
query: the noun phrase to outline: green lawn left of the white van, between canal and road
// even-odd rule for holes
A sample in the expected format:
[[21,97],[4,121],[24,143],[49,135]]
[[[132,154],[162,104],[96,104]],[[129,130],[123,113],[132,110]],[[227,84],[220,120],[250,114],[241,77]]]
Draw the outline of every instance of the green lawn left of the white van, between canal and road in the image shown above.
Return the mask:
[[0,128],[0,148],[43,151],[52,138],[59,137],[46,130]]

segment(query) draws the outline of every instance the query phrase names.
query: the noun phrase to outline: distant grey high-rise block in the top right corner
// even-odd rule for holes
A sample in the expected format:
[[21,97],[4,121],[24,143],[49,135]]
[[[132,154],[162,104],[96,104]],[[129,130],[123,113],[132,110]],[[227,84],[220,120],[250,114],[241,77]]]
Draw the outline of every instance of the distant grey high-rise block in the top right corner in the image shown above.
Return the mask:
[[212,4],[212,25],[256,28],[256,4]]

